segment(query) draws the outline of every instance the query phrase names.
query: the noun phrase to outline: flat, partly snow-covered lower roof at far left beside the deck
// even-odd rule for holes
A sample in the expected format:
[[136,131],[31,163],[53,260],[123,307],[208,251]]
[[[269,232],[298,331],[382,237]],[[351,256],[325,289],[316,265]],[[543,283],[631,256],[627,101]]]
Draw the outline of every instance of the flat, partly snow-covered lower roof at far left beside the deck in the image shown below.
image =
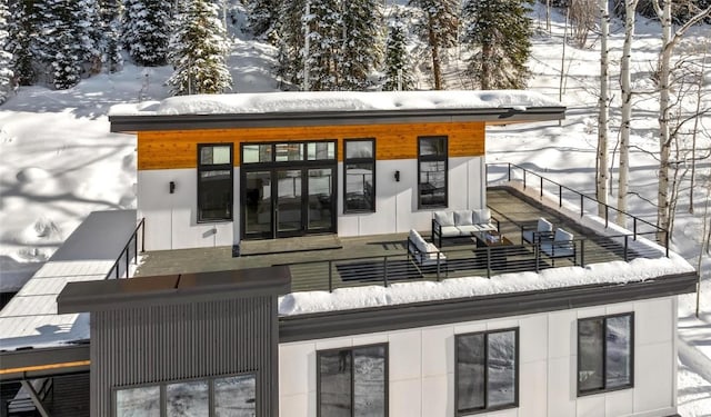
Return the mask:
[[0,350],[89,339],[89,314],[57,314],[67,282],[104,279],[136,229],[136,210],[96,211],[0,311]]

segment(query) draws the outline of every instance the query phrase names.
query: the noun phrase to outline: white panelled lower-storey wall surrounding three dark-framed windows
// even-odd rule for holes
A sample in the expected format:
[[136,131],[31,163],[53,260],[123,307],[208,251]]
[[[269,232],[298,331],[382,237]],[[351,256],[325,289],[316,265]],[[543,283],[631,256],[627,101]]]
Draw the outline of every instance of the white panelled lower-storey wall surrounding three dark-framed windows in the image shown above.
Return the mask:
[[[634,387],[577,397],[579,318],[634,311]],[[519,328],[519,407],[511,417],[669,416],[675,413],[677,298],[469,321],[279,346],[280,415],[317,415],[317,351],[387,342],[390,417],[454,416],[454,335]]]

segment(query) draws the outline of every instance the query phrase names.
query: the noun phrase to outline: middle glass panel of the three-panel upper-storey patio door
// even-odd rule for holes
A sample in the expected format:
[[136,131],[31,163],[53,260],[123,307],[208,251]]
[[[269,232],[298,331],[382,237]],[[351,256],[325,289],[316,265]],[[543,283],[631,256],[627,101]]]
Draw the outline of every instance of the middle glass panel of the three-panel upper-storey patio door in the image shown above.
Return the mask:
[[303,230],[301,171],[277,170],[277,236],[300,235]]

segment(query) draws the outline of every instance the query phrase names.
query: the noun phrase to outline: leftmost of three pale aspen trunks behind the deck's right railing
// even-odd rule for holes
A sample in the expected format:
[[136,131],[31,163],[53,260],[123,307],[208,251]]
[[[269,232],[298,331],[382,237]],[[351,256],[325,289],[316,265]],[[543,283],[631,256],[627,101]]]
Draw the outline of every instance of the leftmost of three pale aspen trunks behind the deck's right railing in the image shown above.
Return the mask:
[[597,193],[598,214],[603,217],[605,208],[603,203],[608,202],[608,131],[609,131],[609,113],[610,99],[608,95],[609,64],[608,64],[608,38],[610,32],[610,10],[608,0],[598,0],[600,8],[600,97],[598,100],[598,172],[597,172]]

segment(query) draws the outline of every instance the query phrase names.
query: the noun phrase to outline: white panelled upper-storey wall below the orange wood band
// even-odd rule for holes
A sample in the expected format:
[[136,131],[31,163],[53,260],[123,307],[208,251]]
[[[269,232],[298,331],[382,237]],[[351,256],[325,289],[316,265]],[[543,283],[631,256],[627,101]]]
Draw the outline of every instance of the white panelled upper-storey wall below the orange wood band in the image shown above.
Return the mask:
[[[400,181],[394,172],[400,171]],[[450,158],[449,210],[485,205],[483,157]],[[138,216],[146,217],[146,249],[182,249],[237,245],[240,240],[240,170],[234,169],[234,221],[198,224],[197,170],[138,171]],[[431,229],[430,209],[418,209],[415,159],[377,161],[375,212],[343,214],[343,165],[338,165],[338,235],[365,236]],[[176,182],[169,193],[169,182]]]

